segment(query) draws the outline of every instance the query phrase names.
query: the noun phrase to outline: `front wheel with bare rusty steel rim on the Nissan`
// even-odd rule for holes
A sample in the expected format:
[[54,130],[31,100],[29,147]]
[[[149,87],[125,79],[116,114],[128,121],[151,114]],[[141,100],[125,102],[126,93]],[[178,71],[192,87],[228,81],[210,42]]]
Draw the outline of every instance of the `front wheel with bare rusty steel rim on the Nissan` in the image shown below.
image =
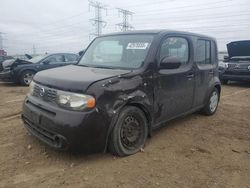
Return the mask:
[[148,136],[145,114],[137,107],[125,107],[111,132],[109,151],[113,155],[133,155],[144,147]]

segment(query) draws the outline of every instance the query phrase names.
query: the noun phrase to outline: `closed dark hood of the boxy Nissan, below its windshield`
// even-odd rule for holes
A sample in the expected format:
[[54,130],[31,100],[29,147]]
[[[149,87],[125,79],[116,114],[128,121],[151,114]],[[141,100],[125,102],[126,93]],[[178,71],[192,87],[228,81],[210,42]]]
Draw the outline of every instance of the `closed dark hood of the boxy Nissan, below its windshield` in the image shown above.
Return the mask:
[[131,70],[103,69],[68,65],[38,72],[34,81],[48,87],[65,91],[84,92],[88,87],[104,79],[127,74]]

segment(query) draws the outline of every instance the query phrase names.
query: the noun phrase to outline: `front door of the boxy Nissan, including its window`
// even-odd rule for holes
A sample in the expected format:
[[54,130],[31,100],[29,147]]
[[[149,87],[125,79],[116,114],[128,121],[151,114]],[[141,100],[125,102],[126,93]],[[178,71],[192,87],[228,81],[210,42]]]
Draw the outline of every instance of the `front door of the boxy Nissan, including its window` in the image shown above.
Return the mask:
[[[180,67],[161,68],[160,61],[164,57],[177,59],[181,62]],[[195,80],[193,67],[191,40],[183,36],[166,37],[160,47],[158,70],[154,76],[155,125],[179,116],[192,108]]]

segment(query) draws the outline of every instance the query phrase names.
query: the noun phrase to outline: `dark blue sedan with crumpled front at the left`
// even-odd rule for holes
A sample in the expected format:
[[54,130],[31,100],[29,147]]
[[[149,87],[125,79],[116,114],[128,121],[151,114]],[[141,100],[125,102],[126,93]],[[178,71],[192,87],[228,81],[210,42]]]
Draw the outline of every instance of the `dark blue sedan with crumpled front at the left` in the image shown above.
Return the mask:
[[33,76],[42,70],[76,64],[79,56],[70,53],[47,54],[29,60],[10,60],[3,62],[0,80],[29,85]]

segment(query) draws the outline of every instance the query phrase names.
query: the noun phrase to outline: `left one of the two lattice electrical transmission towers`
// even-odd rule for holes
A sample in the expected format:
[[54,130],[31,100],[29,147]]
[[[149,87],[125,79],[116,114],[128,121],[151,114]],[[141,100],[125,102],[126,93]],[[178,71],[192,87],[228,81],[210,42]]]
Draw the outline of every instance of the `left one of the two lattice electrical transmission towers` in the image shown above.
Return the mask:
[[90,19],[90,22],[95,26],[95,33],[91,34],[94,36],[100,36],[102,34],[102,28],[104,28],[107,25],[107,22],[102,20],[102,10],[106,10],[107,14],[107,5],[103,5],[102,3],[98,1],[91,1],[89,0],[89,8],[94,7],[95,8],[95,18]]

